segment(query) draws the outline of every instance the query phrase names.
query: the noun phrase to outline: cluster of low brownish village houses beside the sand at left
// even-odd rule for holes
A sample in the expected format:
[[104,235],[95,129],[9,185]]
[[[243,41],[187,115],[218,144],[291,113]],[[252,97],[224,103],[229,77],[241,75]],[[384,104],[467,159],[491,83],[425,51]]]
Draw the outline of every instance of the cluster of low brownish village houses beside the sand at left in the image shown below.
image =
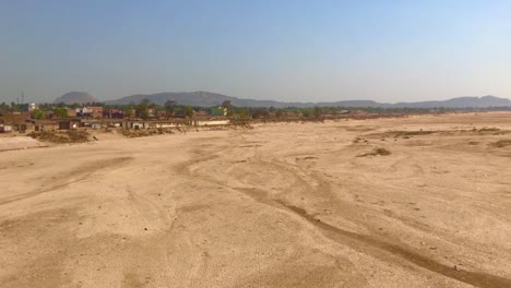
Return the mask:
[[120,109],[109,109],[104,107],[81,107],[66,108],[68,117],[66,119],[56,119],[52,111],[47,111],[47,119],[37,120],[31,118],[31,112],[37,109],[35,104],[28,106],[28,111],[12,113],[8,118],[0,118],[0,133],[32,131],[55,131],[55,130],[79,130],[79,129],[169,129],[183,125],[209,127],[227,125],[229,120],[225,117],[216,117],[206,113],[194,113],[193,119],[166,117],[165,111],[150,109],[150,117],[153,120],[141,120],[124,118]]

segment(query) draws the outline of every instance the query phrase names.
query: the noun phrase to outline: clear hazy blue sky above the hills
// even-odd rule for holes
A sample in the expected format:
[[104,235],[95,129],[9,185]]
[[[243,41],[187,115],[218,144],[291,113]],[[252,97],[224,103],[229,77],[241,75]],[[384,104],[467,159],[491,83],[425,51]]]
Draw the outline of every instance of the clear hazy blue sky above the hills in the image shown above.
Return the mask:
[[511,1],[0,0],[0,101],[511,97]]

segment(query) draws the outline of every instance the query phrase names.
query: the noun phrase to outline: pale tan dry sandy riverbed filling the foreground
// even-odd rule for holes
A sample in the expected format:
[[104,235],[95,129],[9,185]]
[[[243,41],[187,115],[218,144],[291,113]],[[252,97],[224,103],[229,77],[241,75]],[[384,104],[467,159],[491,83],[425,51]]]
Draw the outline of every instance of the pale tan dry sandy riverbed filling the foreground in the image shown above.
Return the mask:
[[[440,132],[389,133],[420,129]],[[511,287],[502,130],[511,113],[2,152],[0,287]],[[392,154],[357,157],[375,147]]]

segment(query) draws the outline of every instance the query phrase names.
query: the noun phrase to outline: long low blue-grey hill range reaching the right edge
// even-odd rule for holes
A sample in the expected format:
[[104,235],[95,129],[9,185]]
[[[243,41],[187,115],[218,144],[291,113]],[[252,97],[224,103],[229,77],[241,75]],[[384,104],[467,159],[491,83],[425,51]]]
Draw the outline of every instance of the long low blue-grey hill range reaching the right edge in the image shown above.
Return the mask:
[[211,92],[166,92],[158,94],[139,94],[128,97],[122,97],[116,100],[105,101],[107,105],[127,105],[139,104],[143,99],[148,99],[152,103],[164,105],[167,100],[176,101],[178,105],[191,106],[216,106],[225,100],[229,100],[231,105],[238,107],[298,107],[307,108],[314,106],[323,107],[380,107],[380,108],[490,108],[490,107],[511,107],[511,100],[507,98],[499,98],[495,96],[484,97],[457,97],[443,101],[418,101],[418,103],[377,103],[372,100],[344,100],[344,101],[330,101],[330,103],[284,103],[274,100],[254,100],[242,99],[223,94]]

